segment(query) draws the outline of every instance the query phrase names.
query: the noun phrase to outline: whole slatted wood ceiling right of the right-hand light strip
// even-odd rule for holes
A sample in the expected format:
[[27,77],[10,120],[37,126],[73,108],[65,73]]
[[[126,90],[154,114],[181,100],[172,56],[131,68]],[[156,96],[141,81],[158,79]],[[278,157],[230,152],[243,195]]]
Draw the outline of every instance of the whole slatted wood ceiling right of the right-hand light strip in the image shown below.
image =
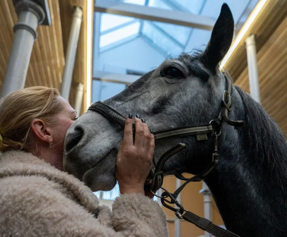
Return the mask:
[[[287,135],[287,1],[266,3],[263,13],[250,27],[256,34],[257,65],[263,108]],[[244,42],[244,40],[243,40]],[[234,84],[249,92],[249,77],[244,43],[225,65]]]

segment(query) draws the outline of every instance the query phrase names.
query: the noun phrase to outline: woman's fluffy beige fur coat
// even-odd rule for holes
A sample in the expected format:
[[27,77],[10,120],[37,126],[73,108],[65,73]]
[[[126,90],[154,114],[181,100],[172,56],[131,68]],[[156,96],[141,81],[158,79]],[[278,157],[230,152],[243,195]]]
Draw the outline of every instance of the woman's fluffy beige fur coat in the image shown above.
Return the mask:
[[31,153],[0,155],[0,236],[168,236],[161,207],[143,194],[99,206],[74,176]]

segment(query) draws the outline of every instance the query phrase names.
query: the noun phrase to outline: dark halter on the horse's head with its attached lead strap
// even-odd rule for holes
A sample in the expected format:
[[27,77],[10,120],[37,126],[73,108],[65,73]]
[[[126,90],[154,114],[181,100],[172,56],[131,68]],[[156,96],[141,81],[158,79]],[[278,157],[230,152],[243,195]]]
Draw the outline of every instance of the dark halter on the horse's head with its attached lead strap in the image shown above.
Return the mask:
[[[175,176],[178,179],[185,180],[185,182],[179,188],[177,188],[174,193],[170,193],[169,191],[167,191],[165,188],[162,187],[163,166],[171,156],[178,153],[180,150],[182,150],[186,146],[183,143],[176,144],[174,147],[166,151],[160,157],[157,163],[155,163],[155,160],[153,159],[152,167],[151,167],[150,174],[149,174],[149,177],[152,179],[150,191],[155,196],[161,199],[163,206],[167,207],[170,210],[173,210],[179,219],[187,220],[195,224],[196,226],[198,226],[200,229],[208,231],[211,234],[218,236],[218,237],[235,237],[235,236],[239,237],[238,235],[228,230],[222,229],[221,227],[214,225],[213,223],[211,223],[211,221],[205,218],[201,218],[195,215],[194,213],[185,210],[182,204],[180,204],[176,200],[179,193],[189,182],[198,182],[198,181],[204,180],[207,177],[207,175],[218,164],[218,161],[219,161],[218,160],[219,159],[218,136],[221,135],[222,123],[226,122],[228,125],[234,126],[235,128],[239,128],[240,126],[244,124],[244,121],[242,120],[231,120],[228,117],[228,113],[231,111],[231,107],[232,107],[232,97],[231,97],[232,83],[230,79],[226,77],[225,75],[224,75],[224,78],[225,78],[226,86],[223,92],[222,101],[218,109],[217,116],[214,119],[212,119],[208,124],[192,125],[188,127],[172,128],[172,129],[154,132],[154,137],[156,141],[165,139],[165,138],[182,137],[182,136],[188,136],[188,135],[196,135],[197,140],[207,140],[208,139],[207,134],[211,134],[214,140],[214,149],[212,153],[211,162],[202,172],[193,176],[192,178],[188,179],[188,178],[185,178],[182,174],[175,174]],[[117,112],[116,110],[112,109],[110,106],[106,105],[105,103],[101,101],[93,103],[89,107],[88,110],[98,112],[104,115],[105,117],[107,117],[108,119],[113,120],[118,125],[120,125],[122,128],[124,128],[126,118],[123,115],[121,115],[119,112]],[[135,132],[134,124],[133,124],[133,132]],[[156,191],[159,190],[160,188],[164,190],[161,196],[156,194]],[[171,201],[166,200],[166,198],[170,198]],[[174,208],[173,206],[167,203],[176,204],[176,206],[179,209]]]

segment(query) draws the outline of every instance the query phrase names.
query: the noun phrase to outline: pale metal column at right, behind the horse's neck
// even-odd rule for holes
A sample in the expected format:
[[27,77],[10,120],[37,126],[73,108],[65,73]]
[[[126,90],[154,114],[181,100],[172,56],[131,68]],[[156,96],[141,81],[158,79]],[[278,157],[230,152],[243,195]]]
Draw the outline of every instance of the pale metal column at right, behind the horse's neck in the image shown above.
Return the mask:
[[251,97],[260,103],[260,88],[258,80],[258,69],[256,60],[255,35],[252,34],[245,40],[248,64],[249,87]]

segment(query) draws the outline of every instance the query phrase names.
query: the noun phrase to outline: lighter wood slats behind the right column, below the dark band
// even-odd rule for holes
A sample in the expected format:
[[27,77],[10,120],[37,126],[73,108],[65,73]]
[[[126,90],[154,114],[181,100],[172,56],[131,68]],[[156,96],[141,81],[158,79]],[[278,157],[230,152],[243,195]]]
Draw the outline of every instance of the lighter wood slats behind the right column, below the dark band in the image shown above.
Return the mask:
[[[261,103],[287,135],[287,17],[257,52]],[[249,92],[248,68],[235,84]]]

